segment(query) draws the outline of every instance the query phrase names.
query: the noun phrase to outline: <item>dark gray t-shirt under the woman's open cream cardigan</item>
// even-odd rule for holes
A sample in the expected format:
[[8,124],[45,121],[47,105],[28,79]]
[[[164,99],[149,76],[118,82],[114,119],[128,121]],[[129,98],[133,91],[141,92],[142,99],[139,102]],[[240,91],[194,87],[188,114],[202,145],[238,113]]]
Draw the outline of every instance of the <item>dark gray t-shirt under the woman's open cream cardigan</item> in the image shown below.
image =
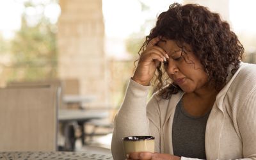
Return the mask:
[[172,145],[175,156],[206,159],[205,127],[209,113],[200,117],[189,115],[180,100],[175,109],[172,125]]

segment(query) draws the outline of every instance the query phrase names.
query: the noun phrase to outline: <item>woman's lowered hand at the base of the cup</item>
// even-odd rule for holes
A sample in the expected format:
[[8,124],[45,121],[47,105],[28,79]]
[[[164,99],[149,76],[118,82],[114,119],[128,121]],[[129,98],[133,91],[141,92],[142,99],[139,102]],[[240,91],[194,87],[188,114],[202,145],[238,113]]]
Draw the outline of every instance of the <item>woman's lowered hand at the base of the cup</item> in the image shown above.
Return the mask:
[[180,157],[171,154],[159,154],[151,152],[133,152],[128,160],[180,160]]

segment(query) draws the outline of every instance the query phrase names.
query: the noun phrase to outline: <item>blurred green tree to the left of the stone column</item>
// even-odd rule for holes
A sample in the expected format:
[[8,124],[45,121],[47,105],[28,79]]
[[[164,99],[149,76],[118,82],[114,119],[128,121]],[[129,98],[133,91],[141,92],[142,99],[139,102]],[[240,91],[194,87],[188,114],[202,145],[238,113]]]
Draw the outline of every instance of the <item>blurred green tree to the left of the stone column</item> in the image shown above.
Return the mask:
[[[25,10],[36,7],[31,2],[26,2],[24,6]],[[38,22],[31,26],[26,13],[22,13],[21,28],[10,42],[13,70],[9,81],[56,77],[56,24],[51,24],[43,13],[39,16]]]

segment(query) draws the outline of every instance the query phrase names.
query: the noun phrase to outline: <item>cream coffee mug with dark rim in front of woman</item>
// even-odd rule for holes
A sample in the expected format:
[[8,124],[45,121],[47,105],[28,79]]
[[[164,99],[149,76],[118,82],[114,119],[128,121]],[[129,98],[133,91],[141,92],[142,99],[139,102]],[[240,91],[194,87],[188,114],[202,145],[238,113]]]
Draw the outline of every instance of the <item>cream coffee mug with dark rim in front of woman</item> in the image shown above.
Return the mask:
[[123,138],[124,154],[132,152],[152,152],[155,150],[155,138],[153,136],[129,136]]

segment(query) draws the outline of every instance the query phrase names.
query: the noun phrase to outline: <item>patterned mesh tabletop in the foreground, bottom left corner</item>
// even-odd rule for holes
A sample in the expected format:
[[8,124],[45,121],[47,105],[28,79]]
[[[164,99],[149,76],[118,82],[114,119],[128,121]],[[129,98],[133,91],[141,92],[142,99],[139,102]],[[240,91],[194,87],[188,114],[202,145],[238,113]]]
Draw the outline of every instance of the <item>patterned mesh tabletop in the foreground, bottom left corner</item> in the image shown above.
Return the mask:
[[108,160],[111,155],[92,154],[90,152],[0,152],[0,160],[57,160],[57,159],[83,159],[83,160]]

